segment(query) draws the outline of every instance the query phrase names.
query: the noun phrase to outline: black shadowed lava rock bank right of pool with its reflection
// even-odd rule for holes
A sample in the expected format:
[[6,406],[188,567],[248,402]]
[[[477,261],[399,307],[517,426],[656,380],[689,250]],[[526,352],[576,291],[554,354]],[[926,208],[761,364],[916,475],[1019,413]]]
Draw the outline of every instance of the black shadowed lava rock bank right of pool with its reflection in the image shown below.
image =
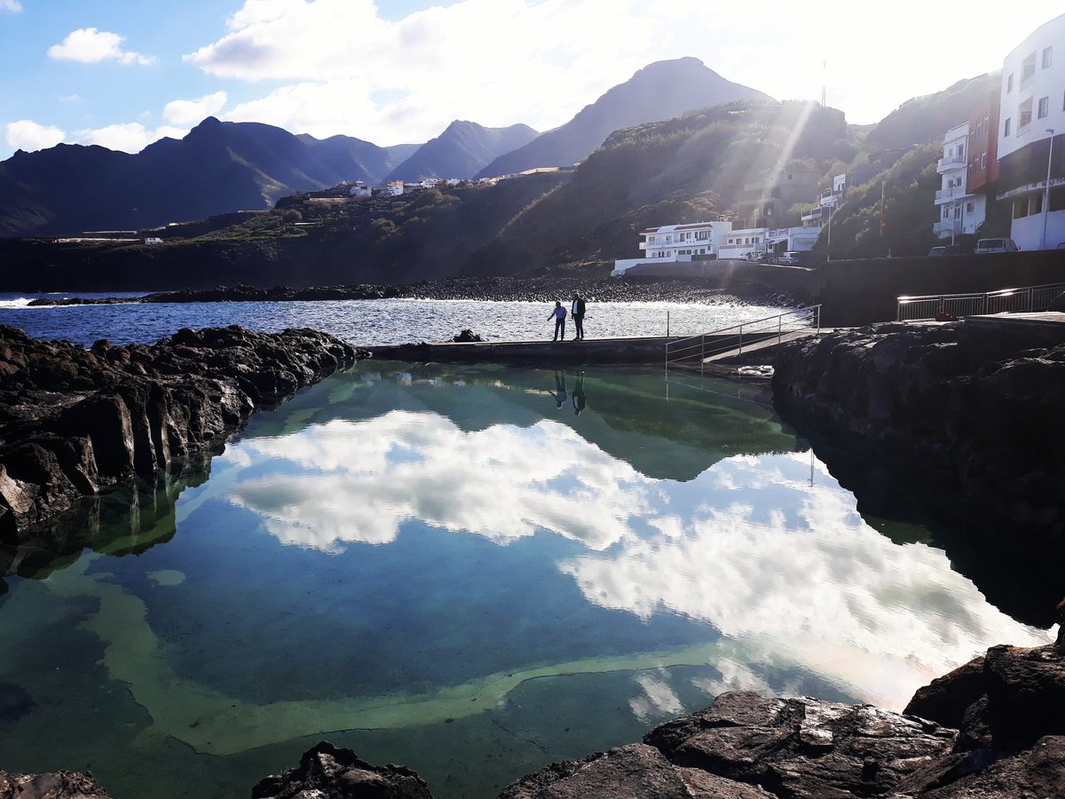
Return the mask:
[[[862,475],[833,462],[833,451],[888,469],[922,499],[930,518],[918,521],[934,524],[952,559],[966,557],[963,570],[996,606],[1052,623],[1065,557],[1065,324],[839,330],[785,343],[773,369],[774,406],[825,445],[843,486]],[[872,512],[911,521],[892,516],[905,510],[890,502]],[[1011,590],[1014,577],[1025,591]]]

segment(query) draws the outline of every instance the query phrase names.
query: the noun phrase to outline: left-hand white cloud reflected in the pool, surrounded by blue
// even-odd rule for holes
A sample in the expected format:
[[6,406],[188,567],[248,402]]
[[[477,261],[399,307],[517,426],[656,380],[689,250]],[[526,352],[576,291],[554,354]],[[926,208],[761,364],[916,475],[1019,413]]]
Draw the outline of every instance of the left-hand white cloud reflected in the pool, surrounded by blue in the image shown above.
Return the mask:
[[[501,543],[550,529],[602,550],[630,535],[628,520],[646,505],[632,467],[557,422],[463,433],[441,417],[394,411],[234,449],[313,471],[241,482],[232,499],[285,543],[325,551],[387,543],[414,518]],[[610,510],[590,515],[592,505]]]

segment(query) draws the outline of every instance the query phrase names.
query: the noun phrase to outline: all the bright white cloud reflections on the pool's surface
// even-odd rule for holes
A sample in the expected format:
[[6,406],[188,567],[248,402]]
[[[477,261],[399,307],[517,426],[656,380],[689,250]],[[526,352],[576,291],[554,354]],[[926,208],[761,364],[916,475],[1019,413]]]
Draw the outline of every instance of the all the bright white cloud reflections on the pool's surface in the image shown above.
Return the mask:
[[[989,605],[941,551],[867,525],[809,453],[736,456],[682,484],[556,422],[463,431],[407,411],[235,449],[237,463],[285,464],[231,493],[284,543],[387,543],[408,519],[499,544],[551,531],[587,547],[558,568],[589,602],[706,621],[766,663],[888,706],[988,646],[1050,639]],[[638,713],[672,701],[642,687]]]

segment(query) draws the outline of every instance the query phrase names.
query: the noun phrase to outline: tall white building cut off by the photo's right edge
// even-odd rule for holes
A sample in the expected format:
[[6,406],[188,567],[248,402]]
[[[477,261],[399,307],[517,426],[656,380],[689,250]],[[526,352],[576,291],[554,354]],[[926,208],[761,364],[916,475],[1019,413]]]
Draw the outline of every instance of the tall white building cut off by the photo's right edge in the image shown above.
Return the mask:
[[1011,237],[1021,249],[1056,247],[1065,243],[1065,14],[1005,56],[1000,119],[996,199],[1011,203]]

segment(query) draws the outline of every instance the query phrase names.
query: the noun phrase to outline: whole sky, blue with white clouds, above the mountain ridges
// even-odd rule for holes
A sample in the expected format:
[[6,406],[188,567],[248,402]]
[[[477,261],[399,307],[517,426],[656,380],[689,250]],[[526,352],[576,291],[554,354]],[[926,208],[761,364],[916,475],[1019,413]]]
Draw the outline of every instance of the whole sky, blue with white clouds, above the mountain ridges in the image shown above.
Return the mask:
[[[873,123],[1001,66],[1056,0],[985,14],[896,0],[0,0],[0,160],[135,152],[209,115],[379,145],[453,119],[550,130],[648,64],[694,56],[779,99]],[[948,25],[946,19],[950,17]],[[825,63],[826,62],[826,63]]]

